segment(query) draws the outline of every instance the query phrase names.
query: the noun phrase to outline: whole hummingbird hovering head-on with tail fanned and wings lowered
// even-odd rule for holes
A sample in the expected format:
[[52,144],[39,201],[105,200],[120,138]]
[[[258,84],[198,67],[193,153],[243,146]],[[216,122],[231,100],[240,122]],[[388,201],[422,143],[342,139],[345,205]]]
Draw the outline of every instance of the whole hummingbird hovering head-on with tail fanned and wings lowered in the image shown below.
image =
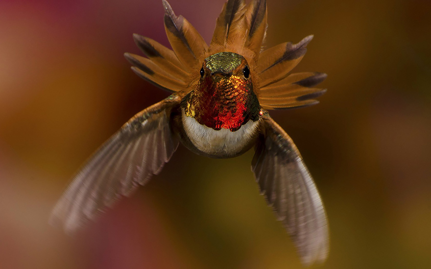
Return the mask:
[[125,53],[141,78],[171,93],[133,116],[72,178],[51,223],[72,233],[160,173],[179,143],[211,158],[255,149],[251,169],[261,194],[297,247],[302,263],[322,263],[329,230],[310,172],[269,110],[317,104],[327,75],[291,73],[313,38],[262,48],[265,0],[228,0],[211,43],[166,0],[164,23],[172,50],[134,34],[143,56]]

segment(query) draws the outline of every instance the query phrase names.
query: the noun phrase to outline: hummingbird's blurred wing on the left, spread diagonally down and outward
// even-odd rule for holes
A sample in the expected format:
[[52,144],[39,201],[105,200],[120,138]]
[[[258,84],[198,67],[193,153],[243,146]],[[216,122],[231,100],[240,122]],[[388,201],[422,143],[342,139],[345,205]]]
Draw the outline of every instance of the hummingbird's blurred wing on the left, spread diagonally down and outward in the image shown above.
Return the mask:
[[136,114],[90,157],[52,211],[50,223],[71,233],[158,174],[178,147],[169,125],[181,98],[171,95]]

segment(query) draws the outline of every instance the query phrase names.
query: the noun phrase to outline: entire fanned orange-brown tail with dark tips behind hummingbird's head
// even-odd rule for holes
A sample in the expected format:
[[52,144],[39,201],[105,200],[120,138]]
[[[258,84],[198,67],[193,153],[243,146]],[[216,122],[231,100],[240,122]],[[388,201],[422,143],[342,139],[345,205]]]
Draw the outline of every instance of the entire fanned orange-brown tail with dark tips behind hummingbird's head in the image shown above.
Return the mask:
[[267,28],[266,0],[228,0],[217,18],[210,47],[182,16],[176,16],[166,0],[165,29],[172,50],[156,41],[134,34],[147,58],[126,53],[133,71],[150,83],[168,90],[190,91],[205,57],[231,51],[246,57],[257,78],[259,102],[264,109],[285,109],[318,103],[314,98],[326,90],[315,88],[325,80],[323,73],[289,74],[307,52],[312,35],[298,44],[286,42],[261,52]]

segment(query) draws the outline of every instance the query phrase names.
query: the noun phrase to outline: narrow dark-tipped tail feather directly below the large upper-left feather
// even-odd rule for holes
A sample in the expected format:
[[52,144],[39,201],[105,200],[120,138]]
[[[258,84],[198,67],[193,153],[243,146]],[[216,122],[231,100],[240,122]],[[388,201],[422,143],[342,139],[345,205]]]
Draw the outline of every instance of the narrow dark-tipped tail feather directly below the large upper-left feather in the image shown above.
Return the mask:
[[133,34],[133,39],[136,45],[144,52],[145,56],[160,68],[179,78],[188,75],[172,50],[150,38],[138,34]]

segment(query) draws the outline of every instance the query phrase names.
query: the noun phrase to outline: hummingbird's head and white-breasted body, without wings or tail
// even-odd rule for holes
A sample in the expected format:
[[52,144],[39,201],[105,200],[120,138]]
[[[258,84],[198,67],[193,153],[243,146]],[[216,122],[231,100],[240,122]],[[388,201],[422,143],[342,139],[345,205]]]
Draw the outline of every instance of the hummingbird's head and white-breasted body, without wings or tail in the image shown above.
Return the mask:
[[196,88],[182,98],[180,125],[196,153],[235,157],[256,143],[261,110],[249,70],[244,70],[243,56],[213,54],[203,62]]

